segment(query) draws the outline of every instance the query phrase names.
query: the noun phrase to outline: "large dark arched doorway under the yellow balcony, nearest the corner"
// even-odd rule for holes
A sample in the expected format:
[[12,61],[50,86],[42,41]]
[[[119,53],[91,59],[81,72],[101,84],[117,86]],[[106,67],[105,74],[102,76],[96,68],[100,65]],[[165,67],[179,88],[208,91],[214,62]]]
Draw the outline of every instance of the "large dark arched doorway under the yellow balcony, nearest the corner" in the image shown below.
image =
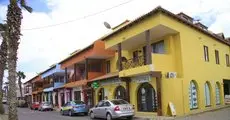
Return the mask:
[[156,92],[151,84],[142,83],[137,92],[138,111],[154,112],[157,110]]

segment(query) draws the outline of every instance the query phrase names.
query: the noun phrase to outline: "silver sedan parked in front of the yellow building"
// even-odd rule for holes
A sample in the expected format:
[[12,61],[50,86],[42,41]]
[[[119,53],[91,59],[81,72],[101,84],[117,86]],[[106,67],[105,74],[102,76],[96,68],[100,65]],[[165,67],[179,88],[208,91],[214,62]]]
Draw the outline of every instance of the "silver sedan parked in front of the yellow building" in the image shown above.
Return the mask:
[[105,118],[112,120],[115,118],[132,119],[134,116],[134,106],[122,99],[102,100],[95,107],[89,110],[90,118]]

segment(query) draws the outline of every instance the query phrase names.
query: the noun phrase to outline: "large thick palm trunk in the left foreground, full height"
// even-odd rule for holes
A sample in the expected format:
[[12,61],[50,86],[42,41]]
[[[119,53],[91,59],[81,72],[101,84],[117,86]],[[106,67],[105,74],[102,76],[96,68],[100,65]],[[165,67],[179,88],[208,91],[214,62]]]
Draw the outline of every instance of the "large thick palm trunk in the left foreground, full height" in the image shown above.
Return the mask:
[[8,74],[9,74],[9,120],[18,120],[16,105],[17,51],[21,35],[22,8],[32,12],[25,0],[9,0],[7,9],[8,25]]

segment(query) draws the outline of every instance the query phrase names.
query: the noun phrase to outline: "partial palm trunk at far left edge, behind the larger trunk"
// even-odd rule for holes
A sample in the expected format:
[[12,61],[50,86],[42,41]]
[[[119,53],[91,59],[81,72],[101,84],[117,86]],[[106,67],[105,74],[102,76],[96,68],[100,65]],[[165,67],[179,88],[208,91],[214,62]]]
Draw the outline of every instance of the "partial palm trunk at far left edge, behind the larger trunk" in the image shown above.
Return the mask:
[[1,37],[2,37],[2,43],[0,46],[0,114],[4,114],[5,110],[2,104],[2,98],[3,98],[3,77],[4,77],[4,70],[6,69],[6,60],[7,60],[7,34],[6,30],[7,25],[0,23],[0,31],[1,31]]

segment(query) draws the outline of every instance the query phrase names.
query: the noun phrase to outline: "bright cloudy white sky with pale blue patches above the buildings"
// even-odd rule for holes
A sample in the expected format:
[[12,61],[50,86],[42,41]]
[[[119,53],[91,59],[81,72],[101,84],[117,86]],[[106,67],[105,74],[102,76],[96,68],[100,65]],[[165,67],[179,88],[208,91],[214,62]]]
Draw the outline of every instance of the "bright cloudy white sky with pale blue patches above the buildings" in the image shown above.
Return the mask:
[[[8,1],[0,0],[0,22],[6,20]],[[230,37],[230,0],[27,0],[27,4],[34,11],[23,10],[17,66],[27,76],[23,82],[110,32],[103,22],[116,26],[159,5]]]

